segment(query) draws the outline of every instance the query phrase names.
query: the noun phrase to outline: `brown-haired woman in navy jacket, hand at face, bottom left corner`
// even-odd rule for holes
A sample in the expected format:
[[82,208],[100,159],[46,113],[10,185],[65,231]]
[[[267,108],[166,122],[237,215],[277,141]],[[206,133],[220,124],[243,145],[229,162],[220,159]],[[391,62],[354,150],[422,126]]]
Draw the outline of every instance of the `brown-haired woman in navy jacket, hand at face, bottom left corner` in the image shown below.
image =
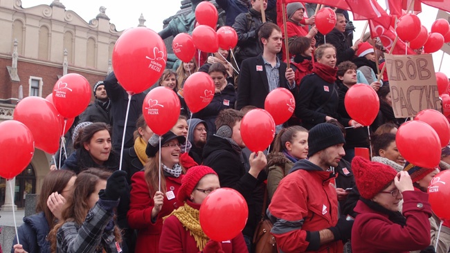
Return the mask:
[[37,201],[37,214],[24,217],[24,223],[17,229],[17,238],[12,241],[14,253],[50,252],[50,243],[46,240],[48,232],[61,219],[66,199],[71,197],[75,173],[68,170],[50,171],[42,182],[41,194]]

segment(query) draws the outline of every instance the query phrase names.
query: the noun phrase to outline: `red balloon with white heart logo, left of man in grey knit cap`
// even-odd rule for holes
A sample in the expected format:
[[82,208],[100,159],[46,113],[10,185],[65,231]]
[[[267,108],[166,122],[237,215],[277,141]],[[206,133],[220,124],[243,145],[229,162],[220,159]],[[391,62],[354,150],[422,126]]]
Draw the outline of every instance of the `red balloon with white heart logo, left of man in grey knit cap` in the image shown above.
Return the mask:
[[91,86],[82,75],[63,75],[53,86],[53,105],[64,118],[80,115],[91,101]]

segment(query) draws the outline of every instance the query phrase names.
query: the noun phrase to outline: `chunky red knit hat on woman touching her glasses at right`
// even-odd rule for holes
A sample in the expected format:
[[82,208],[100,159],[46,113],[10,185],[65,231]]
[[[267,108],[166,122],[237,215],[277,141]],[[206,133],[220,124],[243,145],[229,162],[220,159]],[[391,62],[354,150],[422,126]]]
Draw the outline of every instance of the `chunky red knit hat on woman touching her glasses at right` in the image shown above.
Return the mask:
[[368,200],[377,195],[397,176],[397,171],[393,167],[379,162],[370,162],[360,156],[353,158],[352,171],[359,194]]

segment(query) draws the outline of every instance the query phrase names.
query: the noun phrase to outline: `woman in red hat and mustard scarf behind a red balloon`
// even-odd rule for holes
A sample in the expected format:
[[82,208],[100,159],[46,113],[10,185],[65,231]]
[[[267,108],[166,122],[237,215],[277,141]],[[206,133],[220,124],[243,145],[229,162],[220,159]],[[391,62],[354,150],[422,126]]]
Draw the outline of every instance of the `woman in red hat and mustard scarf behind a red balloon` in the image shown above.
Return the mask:
[[191,167],[183,177],[178,191],[178,202],[183,206],[165,219],[159,252],[247,253],[242,233],[235,238],[217,242],[210,240],[201,230],[199,209],[211,191],[220,188],[219,177],[210,167]]

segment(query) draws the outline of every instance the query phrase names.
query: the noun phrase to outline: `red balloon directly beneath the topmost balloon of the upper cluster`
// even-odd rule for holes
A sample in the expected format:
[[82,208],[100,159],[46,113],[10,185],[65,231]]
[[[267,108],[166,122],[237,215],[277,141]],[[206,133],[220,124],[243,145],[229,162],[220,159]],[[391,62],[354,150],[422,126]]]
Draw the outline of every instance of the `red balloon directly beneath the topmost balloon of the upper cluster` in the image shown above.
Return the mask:
[[195,46],[203,52],[216,53],[219,50],[217,33],[209,26],[200,25],[194,28],[192,31],[192,39],[194,39]]

